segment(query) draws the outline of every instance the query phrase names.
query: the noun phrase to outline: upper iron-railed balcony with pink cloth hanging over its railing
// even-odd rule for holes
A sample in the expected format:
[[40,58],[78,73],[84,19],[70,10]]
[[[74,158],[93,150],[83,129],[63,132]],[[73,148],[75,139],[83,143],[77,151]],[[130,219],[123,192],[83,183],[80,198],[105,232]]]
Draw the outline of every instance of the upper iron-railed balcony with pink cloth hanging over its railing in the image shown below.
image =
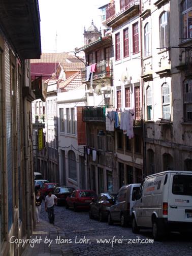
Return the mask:
[[[82,82],[86,82],[87,72],[86,68],[81,70]],[[100,78],[107,78],[113,75],[112,61],[102,60],[97,63],[97,70],[93,73],[93,80]]]

